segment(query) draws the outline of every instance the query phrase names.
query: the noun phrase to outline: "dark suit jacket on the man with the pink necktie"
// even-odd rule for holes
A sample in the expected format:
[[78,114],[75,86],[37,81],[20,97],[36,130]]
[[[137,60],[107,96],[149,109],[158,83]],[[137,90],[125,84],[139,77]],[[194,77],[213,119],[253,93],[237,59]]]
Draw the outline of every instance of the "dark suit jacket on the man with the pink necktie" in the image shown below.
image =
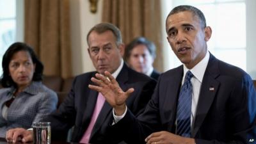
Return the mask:
[[[47,121],[51,122],[53,140],[66,140],[67,131],[73,125],[72,141],[79,142],[83,137],[97,101],[98,92],[88,88],[88,84],[93,84],[91,77],[95,77],[95,74],[96,72],[88,72],[77,76],[67,99],[64,100],[57,111],[46,118]],[[148,100],[151,99],[156,81],[144,74],[135,72],[125,64],[116,77],[116,81],[124,91],[134,88],[135,91],[127,99],[127,106],[134,115],[142,113]],[[106,136],[106,127],[112,116],[112,108],[108,102],[105,102],[93,127],[90,143],[113,143],[115,140],[118,141],[118,138]]]

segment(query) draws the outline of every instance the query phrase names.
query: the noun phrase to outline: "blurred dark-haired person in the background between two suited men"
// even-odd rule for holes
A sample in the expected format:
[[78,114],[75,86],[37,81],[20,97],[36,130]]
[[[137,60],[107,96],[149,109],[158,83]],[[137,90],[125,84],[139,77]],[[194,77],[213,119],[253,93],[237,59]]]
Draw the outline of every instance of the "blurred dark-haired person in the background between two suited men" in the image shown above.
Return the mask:
[[125,47],[124,59],[129,67],[157,80],[160,74],[153,67],[155,58],[156,45],[147,38],[135,38]]

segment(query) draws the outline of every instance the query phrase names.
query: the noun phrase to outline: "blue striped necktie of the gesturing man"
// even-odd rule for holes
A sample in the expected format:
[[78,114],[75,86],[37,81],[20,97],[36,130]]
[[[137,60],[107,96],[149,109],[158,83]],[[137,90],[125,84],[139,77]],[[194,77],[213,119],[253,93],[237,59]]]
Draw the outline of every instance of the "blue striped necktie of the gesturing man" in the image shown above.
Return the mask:
[[181,87],[177,106],[177,134],[190,138],[191,136],[191,104],[192,104],[192,84],[190,82],[193,74],[188,71],[184,84]]

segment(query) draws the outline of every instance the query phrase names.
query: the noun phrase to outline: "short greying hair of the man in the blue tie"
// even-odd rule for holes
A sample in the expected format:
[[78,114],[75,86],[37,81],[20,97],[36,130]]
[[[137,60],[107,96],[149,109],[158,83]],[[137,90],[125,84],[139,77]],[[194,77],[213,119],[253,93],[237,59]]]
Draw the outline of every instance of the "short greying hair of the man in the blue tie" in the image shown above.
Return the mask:
[[166,22],[167,22],[168,17],[170,17],[170,15],[173,15],[173,14],[176,14],[179,12],[185,12],[185,11],[189,11],[189,12],[193,13],[194,16],[196,15],[201,22],[202,28],[206,27],[206,20],[204,17],[204,13],[201,10],[199,10],[198,8],[196,8],[194,6],[189,6],[189,5],[180,5],[180,6],[176,6],[175,8],[173,8],[172,11],[168,14],[168,16],[166,18]]

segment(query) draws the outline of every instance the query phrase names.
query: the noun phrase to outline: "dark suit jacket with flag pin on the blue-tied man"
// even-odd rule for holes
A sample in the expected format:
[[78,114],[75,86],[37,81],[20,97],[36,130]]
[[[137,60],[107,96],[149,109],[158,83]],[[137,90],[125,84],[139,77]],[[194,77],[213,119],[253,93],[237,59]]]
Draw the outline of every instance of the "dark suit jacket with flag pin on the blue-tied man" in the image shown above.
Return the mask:
[[[111,131],[119,131],[118,136],[123,136],[127,143],[145,143],[145,138],[152,132],[175,133],[182,74],[183,66],[161,74],[145,112],[136,119],[128,110]],[[255,143],[255,97],[252,79],[246,72],[211,54],[202,80],[191,137],[195,138],[196,144]]]

